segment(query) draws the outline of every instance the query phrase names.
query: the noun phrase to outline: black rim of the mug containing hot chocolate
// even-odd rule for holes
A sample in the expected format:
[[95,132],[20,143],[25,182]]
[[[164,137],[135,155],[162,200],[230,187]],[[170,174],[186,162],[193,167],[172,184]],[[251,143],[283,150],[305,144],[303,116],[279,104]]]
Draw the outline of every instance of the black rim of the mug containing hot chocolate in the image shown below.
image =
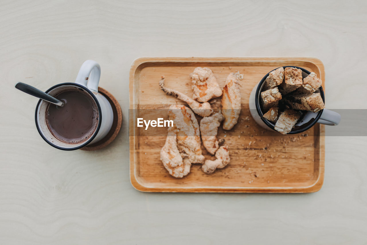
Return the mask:
[[62,84],[57,84],[55,86],[52,86],[51,88],[47,89],[46,93],[50,92],[52,89],[55,89],[59,86],[65,86],[65,85],[72,85],[72,86],[76,86],[79,87],[81,89],[83,89],[85,92],[87,92],[90,96],[92,96],[92,98],[94,99],[95,103],[97,104],[97,108],[98,108],[98,125],[97,125],[97,129],[95,130],[94,134],[91,136],[91,138],[89,138],[86,142],[84,142],[82,145],[77,146],[77,147],[73,147],[73,148],[64,148],[64,147],[60,147],[57,145],[54,145],[53,143],[51,143],[50,141],[48,141],[48,139],[42,134],[41,129],[38,127],[38,123],[37,123],[37,111],[38,111],[38,107],[41,103],[41,99],[38,101],[37,106],[36,106],[36,112],[34,114],[34,119],[36,121],[36,127],[37,130],[39,132],[39,134],[41,135],[41,137],[44,139],[44,141],[46,141],[49,145],[53,146],[54,148],[57,148],[59,150],[77,150],[80,148],[83,148],[84,146],[88,145],[90,142],[92,142],[92,140],[95,138],[95,136],[97,136],[98,132],[99,132],[99,128],[101,128],[101,123],[102,123],[102,110],[101,110],[101,105],[99,104],[97,97],[95,97],[95,95],[86,87],[84,87],[83,85],[80,84],[76,84],[74,82],[65,82]]

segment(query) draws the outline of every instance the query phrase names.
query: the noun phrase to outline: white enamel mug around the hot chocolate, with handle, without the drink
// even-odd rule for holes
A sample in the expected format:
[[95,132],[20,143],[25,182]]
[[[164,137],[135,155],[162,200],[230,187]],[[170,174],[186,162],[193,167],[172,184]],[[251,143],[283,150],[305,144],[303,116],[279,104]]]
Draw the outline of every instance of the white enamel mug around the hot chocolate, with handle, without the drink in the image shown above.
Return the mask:
[[105,96],[98,93],[99,78],[101,77],[101,67],[94,60],[87,60],[81,65],[75,82],[57,84],[46,91],[51,96],[70,90],[79,89],[88,93],[98,108],[98,125],[96,130],[88,139],[80,143],[65,143],[57,139],[50,131],[46,123],[48,102],[39,100],[36,106],[36,127],[41,137],[51,146],[60,150],[77,150],[84,146],[98,142],[110,131],[113,123],[113,111],[111,104]]

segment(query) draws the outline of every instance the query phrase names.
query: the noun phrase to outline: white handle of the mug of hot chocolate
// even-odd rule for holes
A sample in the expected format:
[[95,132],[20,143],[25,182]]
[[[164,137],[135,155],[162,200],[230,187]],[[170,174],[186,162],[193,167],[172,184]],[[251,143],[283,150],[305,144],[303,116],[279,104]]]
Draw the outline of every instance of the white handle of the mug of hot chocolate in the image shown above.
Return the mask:
[[87,87],[92,92],[98,93],[100,77],[101,67],[99,64],[94,60],[86,60],[80,67],[75,83]]

